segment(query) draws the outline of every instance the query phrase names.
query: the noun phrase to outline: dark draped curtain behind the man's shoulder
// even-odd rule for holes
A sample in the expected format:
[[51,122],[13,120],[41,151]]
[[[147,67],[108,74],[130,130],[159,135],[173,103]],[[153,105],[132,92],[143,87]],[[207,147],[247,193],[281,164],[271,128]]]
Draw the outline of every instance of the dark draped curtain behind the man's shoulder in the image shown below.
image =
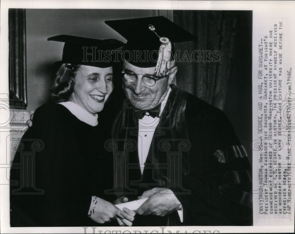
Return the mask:
[[[238,18],[238,11],[173,11],[173,21],[198,38],[176,45],[180,57],[185,50],[189,55],[202,51],[201,62],[178,62],[177,86],[221,110],[232,70]],[[204,50],[219,50],[220,61],[205,62]]]

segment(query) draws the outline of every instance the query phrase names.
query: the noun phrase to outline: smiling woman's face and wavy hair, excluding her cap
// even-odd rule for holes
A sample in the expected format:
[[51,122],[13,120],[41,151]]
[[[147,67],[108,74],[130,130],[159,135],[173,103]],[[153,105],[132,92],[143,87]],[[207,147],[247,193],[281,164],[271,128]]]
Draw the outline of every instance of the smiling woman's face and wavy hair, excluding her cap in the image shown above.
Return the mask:
[[102,111],[113,90],[112,67],[62,64],[53,79],[50,94],[56,102],[71,101],[95,115]]

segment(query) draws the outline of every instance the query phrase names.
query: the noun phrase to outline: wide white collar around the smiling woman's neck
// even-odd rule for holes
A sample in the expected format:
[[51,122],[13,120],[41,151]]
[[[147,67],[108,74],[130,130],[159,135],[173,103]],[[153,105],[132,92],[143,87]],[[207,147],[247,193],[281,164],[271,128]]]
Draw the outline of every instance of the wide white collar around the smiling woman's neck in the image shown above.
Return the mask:
[[98,124],[97,117],[98,114],[92,115],[88,111],[86,111],[84,108],[79,106],[76,103],[73,102],[60,102],[58,104],[63,105],[65,108],[67,108],[71,113],[76,116],[79,120],[83,121],[84,123],[87,123],[91,126],[96,126]]

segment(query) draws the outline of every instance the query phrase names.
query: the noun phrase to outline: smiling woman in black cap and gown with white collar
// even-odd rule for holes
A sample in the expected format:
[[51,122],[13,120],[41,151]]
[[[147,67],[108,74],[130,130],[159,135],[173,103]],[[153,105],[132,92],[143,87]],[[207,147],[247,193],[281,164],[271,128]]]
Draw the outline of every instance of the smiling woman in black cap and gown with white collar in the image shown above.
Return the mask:
[[50,89],[57,103],[37,108],[32,127],[17,143],[10,225],[97,226],[116,217],[120,225],[132,225],[135,212],[123,212],[111,203],[114,197],[104,195],[111,184],[112,155],[104,149],[110,133],[106,124],[98,124],[97,113],[113,90],[113,63],[85,62],[83,56],[85,47],[111,50],[121,42],[68,35],[50,39],[65,42]]

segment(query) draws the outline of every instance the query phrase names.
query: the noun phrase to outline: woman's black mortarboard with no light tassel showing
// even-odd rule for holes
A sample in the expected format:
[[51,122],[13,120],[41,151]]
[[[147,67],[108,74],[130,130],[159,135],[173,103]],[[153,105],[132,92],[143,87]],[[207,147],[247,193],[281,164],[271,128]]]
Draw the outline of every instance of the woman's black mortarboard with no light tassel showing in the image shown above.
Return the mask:
[[100,40],[71,35],[49,37],[47,41],[65,42],[62,63],[101,68],[113,65],[112,53],[105,55],[104,51],[117,49],[124,44],[116,39]]

